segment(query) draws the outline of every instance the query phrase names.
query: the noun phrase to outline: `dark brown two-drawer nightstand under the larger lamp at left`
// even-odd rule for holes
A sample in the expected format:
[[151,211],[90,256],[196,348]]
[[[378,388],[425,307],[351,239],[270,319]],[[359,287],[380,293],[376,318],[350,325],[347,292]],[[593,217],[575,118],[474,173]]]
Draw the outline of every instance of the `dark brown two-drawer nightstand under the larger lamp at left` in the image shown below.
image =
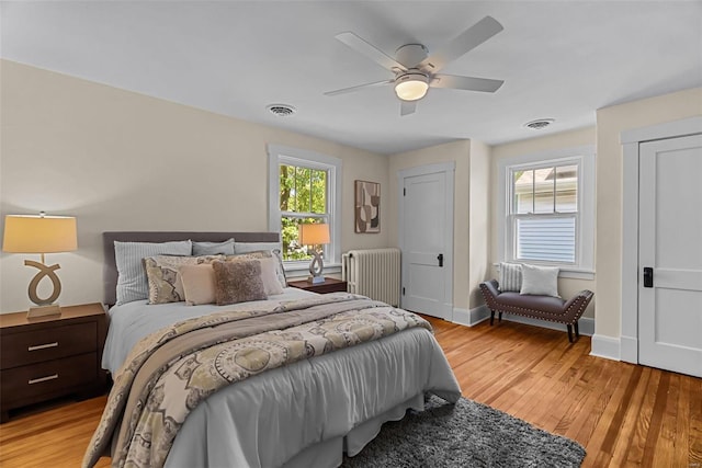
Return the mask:
[[0,422],[10,410],[76,393],[104,393],[107,321],[102,304],[61,307],[60,316],[0,315]]

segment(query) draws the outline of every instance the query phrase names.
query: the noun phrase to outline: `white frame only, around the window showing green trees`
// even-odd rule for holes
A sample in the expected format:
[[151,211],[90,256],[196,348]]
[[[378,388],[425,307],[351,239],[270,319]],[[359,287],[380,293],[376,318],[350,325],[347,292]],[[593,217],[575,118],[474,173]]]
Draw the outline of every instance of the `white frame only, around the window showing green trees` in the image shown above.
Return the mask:
[[[329,222],[329,238],[331,242],[325,246],[325,272],[333,273],[341,267],[341,160],[318,152],[286,147],[281,145],[268,145],[268,172],[269,172],[269,213],[268,229],[273,232],[281,231],[280,209],[280,165],[295,165],[327,171],[327,213]],[[282,241],[282,239],[281,239]],[[309,261],[284,262],[286,272],[306,271]]]

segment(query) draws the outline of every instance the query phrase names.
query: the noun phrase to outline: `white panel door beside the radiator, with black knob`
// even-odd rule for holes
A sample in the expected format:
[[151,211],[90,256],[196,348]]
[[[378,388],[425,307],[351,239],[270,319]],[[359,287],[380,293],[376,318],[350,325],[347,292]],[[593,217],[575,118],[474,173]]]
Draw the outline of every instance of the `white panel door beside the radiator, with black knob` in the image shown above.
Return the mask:
[[[453,311],[453,209],[448,178],[434,172],[404,179],[403,308],[451,319]],[[452,183],[450,184],[453,185]],[[449,231],[451,230],[451,231]]]

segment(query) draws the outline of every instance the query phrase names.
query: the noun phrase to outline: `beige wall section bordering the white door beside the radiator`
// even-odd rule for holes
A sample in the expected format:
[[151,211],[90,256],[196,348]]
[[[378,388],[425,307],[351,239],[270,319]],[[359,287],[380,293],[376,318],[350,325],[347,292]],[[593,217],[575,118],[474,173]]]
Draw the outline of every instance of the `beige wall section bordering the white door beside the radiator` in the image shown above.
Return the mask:
[[[397,173],[404,169],[438,162],[455,162],[454,220],[453,220],[453,306],[468,306],[468,180],[469,180],[471,141],[460,140],[445,145],[422,148],[414,151],[392,155],[389,157],[389,180],[386,192],[389,202],[388,241],[392,246],[398,242],[397,215],[399,201]],[[383,195],[385,196],[385,195]]]

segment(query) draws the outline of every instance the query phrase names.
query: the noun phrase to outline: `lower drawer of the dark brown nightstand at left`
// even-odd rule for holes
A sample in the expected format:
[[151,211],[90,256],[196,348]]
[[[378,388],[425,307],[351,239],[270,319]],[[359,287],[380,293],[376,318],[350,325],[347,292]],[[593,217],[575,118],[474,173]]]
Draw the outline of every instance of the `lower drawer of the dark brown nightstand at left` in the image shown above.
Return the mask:
[[93,383],[98,354],[88,353],[2,372],[2,402],[12,402]]

